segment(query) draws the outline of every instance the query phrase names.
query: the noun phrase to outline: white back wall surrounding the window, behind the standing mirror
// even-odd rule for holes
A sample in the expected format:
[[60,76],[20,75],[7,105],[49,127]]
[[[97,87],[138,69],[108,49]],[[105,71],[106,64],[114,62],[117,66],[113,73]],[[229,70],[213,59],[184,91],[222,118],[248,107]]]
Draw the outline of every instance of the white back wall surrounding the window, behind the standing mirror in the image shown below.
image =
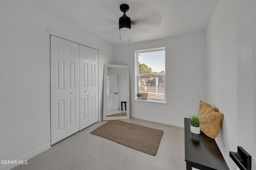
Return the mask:
[[[165,47],[166,105],[134,100],[134,51]],[[184,127],[205,99],[205,33],[114,47],[114,64],[130,65],[131,117]]]

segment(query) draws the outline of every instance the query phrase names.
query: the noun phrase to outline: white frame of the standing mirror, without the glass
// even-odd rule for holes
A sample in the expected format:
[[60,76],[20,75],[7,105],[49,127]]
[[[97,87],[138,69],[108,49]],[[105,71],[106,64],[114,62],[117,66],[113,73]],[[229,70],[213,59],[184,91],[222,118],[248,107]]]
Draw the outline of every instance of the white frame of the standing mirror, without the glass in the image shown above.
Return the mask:
[[[126,69],[126,116],[106,117],[107,110],[107,77],[108,68],[125,68]],[[128,65],[104,64],[104,89],[103,89],[103,120],[120,120],[130,119],[130,77]]]

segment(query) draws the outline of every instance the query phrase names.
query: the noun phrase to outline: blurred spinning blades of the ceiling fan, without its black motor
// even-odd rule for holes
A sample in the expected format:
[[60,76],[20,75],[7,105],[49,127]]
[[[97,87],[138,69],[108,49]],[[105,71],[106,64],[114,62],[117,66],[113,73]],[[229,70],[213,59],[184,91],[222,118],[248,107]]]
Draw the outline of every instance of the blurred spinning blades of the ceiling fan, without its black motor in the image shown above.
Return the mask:
[[[117,5],[116,1],[97,6],[97,10],[90,12],[88,23],[92,26],[93,31],[115,37],[118,36],[119,29],[120,35],[122,34],[124,37],[131,33],[131,37],[138,38],[160,25],[162,21],[160,13],[154,6],[135,0],[129,1],[129,5]],[[118,17],[120,14],[122,16]]]

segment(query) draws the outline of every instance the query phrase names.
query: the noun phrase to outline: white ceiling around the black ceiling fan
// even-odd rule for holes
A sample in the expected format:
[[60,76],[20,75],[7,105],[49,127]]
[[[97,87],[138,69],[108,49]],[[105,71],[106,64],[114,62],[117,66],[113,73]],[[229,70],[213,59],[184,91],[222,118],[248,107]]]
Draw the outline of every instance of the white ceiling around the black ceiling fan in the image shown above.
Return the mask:
[[129,43],[118,20],[120,4],[134,22],[130,43],[205,31],[219,0],[25,0],[111,45]]

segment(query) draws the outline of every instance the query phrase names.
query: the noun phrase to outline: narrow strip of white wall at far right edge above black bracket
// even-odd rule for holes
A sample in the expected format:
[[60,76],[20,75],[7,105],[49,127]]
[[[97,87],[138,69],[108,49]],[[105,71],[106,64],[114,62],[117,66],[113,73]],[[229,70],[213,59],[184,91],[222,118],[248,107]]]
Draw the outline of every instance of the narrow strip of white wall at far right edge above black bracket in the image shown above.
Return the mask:
[[256,169],[256,1],[236,0],[237,141]]

